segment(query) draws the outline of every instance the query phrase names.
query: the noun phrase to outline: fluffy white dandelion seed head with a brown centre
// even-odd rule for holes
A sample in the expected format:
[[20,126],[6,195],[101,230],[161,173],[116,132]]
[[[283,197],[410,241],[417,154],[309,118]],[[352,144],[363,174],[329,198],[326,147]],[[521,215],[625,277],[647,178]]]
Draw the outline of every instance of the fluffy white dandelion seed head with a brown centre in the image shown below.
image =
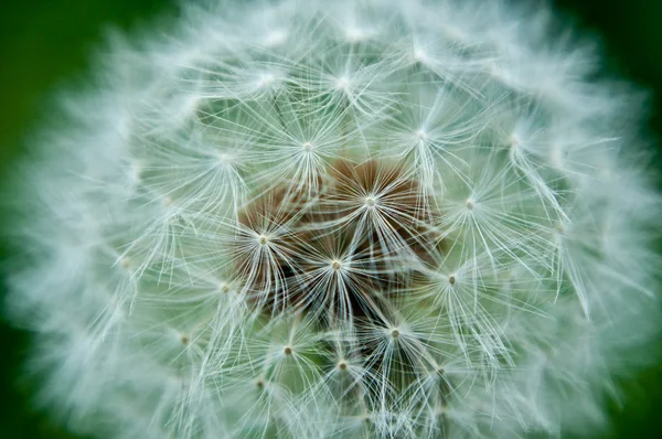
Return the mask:
[[18,171],[35,400],[116,438],[604,426],[660,197],[592,43],[500,2],[238,3],[115,42]]

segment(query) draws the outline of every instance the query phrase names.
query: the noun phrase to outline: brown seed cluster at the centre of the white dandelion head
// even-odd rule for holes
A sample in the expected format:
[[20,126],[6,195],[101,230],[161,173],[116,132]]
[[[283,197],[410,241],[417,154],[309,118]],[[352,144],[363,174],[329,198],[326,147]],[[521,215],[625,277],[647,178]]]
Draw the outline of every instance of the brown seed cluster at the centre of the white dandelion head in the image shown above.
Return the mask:
[[378,322],[389,296],[439,259],[437,215],[396,163],[341,159],[321,179],[314,191],[270,188],[242,211],[234,255],[244,291],[267,313]]

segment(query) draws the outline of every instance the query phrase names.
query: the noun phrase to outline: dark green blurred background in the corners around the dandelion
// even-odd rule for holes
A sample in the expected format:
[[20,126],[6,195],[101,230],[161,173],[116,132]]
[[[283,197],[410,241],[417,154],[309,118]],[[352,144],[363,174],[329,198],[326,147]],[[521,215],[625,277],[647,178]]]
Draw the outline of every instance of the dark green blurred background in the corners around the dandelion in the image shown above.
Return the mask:
[[[0,7],[0,180],[22,151],[22,136],[44,116],[47,96],[65,82],[85,77],[90,54],[99,47],[107,29],[140,29],[154,17],[177,15],[177,8],[168,0],[3,3]],[[576,19],[579,28],[602,35],[610,69],[654,93],[649,125],[660,136],[662,1],[557,0],[555,3]],[[661,163],[659,158],[656,163]],[[0,232],[2,223],[0,217]],[[0,263],[7,256],[8,249],[0,242]],[[0,299],[3,295],[2,282]],[[30,389],[15,384],[28,343],[26,334],[0,321],[0,437],[72,438],[46,416],[30,410]],[[658,347],[662,347],[662,341],[659,344]],[[662,364],[642,372],[623,386],[624,401],[610,407],[613,428],[607,437],[662,437],[659,420],[662,418]]]

